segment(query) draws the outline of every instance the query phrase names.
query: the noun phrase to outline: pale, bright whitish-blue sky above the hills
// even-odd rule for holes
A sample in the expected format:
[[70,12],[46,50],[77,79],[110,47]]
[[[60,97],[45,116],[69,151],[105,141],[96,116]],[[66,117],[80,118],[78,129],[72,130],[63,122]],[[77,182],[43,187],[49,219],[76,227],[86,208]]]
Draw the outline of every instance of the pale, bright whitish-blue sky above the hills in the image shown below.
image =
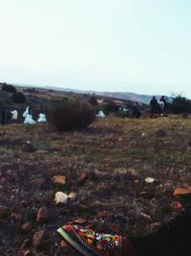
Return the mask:
[[183,93],[190,0],[0,0],[0,81]]

